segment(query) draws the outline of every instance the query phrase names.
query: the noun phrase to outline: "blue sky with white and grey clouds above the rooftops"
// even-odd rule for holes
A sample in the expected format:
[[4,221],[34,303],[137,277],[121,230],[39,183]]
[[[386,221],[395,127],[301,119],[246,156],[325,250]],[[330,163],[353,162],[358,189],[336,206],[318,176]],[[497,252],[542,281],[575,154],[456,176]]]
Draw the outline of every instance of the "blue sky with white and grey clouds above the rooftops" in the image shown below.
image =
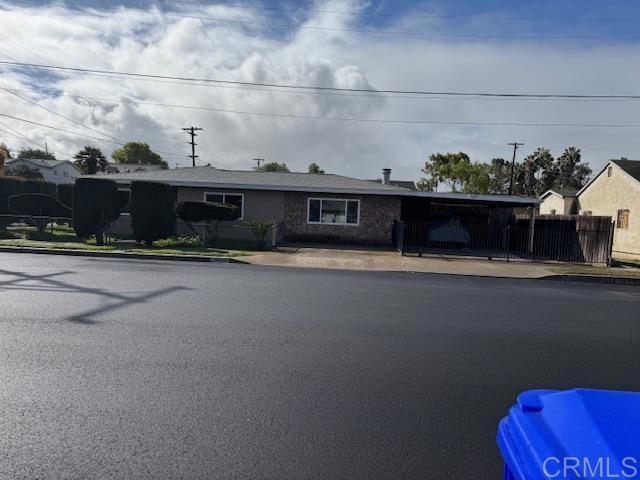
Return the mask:
[[[634,1],[0,0],[0,25],[8,62],[350,89],[640,94]],[[261,157],[417,179],[431,153],[509,158],[515,140],[522,154],[575,145],[594,168],[640,158],[640,100],[313,92],[0,65],[0,114],[16,117],[0,116],[0,142],[14,151],[46,142],[59,158],[83,145],[110,155],[142,140],[172,167],[189,165],[181,128],[191,125],[204,129],[200,163],[220,168]]]

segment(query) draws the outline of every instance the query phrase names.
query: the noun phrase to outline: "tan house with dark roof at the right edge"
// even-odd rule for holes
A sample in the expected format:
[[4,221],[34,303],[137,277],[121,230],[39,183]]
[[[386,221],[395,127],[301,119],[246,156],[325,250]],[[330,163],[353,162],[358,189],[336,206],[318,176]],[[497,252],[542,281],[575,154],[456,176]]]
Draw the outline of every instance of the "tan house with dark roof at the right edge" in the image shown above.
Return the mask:
[[578,192],[581,215],[607,215],[616,223],[613,256],[640,259],[640,161],[610,160]]

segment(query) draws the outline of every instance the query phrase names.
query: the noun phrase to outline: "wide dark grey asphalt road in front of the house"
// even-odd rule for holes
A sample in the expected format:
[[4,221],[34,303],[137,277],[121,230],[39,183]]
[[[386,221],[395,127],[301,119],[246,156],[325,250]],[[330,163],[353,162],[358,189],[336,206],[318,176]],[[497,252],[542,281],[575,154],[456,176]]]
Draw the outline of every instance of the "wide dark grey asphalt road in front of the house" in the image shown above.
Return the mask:
[[0,478],[498,479],[530,388],[640,390],[640,289],[0,254]]

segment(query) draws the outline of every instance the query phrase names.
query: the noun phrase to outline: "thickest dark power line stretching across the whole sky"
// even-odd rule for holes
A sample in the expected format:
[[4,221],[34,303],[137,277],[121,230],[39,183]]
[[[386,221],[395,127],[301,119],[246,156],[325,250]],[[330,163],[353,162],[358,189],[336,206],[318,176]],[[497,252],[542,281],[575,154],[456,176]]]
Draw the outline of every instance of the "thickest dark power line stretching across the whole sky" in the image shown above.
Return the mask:
[[451,96],[451,97],[501,97],[501,98],[588,98],[588,99],[624,99],[624,100],[639,100],[640,95],[591,95],[591,94],[565,94],[565,93],[498,93],[498,92],[456,92],[456,91],[428,91],[428,90],[398,90],[398,89],[374,89],[374,88],[346,88],[346,87],[324,87],[318,85],[294,85],[294,84],[278,84],[278,83],[266,83],[266,82],[244,82],[239,80],[222,80],[214,78],[197,78],[197,77],[183,77],[183,76],[170,76],[170,75],[158,75],[150,73],[136,73],[136,72],[118,72],[114,70],[100,70],[92,68],[81,67],[63,67],[59,65],[43,65],[38,63],[24,63],[24,62],[10,62],[6,60],[0,60],[1,65],[11,65],[15,67],[23,68],[38,68],[48,70],[60,70],[76,73],[98,73],[108,75],[121,75],[127,77],[139,77],[139,78],[152,78],[162,80],[185,80],[192,82],[213,83],[213,84],[227,84],[227,85],[248,85],[257,87],[275,87],[275,88],[289,88],[295,90],[317,90],[317,91],[329,91],[329,92],[357,92],[357,93],[376,93],[376,94],[406,94],[406,95],[425,95],[425,96]]

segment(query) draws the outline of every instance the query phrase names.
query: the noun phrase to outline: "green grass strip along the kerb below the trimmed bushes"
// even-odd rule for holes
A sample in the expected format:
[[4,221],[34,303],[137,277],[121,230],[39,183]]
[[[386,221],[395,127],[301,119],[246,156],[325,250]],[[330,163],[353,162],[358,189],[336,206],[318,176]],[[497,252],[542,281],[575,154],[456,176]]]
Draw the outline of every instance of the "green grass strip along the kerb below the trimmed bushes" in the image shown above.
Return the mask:
[[[95,240],[85,242],[75,235],[68,227],[55,227],[44,234],[39,234],[34,227],[21,227],[8,230],[9,235],[0,239],[0,246],[16,248],[43,248],[57,250],[81,250],[87,252],[118,252],[146,255],[196,255],[206,257],[239,257],[248,255],[243,251],[223,248],[207,248],[204,246],[174,246],[180,242],[164,241],[158,246],[146,247],[133,242],[115,241],[109,245],[98,246]],[[7,238],[9,237],[9,238]],[[196,245],[195,242],[191,243]]]

